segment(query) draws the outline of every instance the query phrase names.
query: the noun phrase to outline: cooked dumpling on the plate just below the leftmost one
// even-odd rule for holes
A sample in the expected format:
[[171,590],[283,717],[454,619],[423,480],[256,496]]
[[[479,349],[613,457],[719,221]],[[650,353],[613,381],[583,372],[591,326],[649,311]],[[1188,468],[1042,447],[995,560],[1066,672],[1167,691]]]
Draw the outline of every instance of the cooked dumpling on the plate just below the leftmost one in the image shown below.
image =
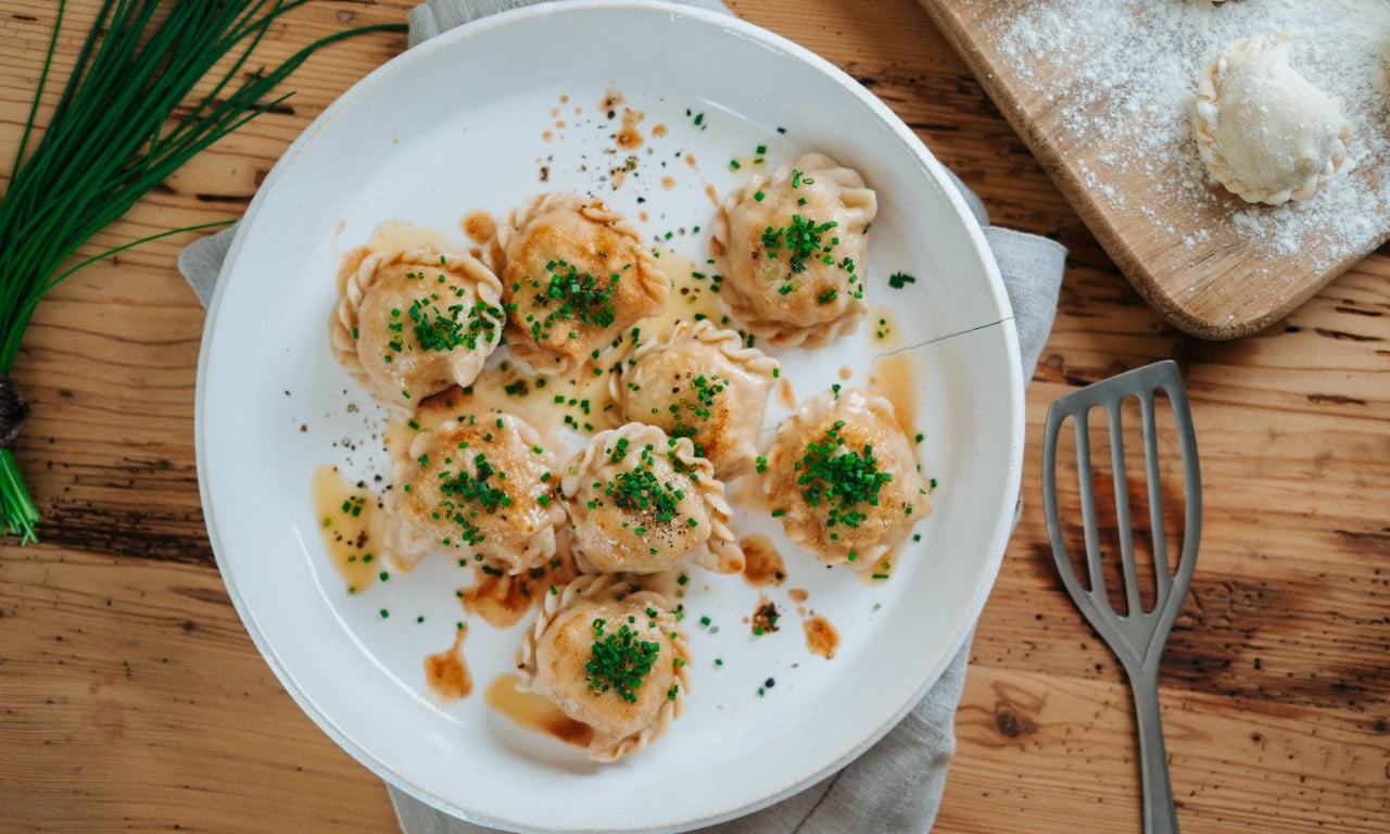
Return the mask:
[[510,414],[421,431],[395,461],[386,552],[398,569],[445,550],[513,575],[543,566],[564,521],[553,471],[539,432]]

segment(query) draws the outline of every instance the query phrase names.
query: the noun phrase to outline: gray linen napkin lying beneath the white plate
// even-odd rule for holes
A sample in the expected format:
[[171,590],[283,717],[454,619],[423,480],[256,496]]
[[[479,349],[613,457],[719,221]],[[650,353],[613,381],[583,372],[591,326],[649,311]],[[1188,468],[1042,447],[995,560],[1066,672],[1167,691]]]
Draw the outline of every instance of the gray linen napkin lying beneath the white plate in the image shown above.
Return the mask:
[[[468,21],[534,1],[428,0],[410,13],[410,46]],[[728,11],[719,0],[677,1]],[[951,179],[984,227],[999,264],[1013,306],[1027,379],[1052,329],[1066,249],[1047,238],[988,225],[984,204],[974,192],[955,174]],[[222,229],[179,253],[179,271],[204,304],[213,297],[235,232],[235,227]],[[931,828],[955,752],[954,719],[969,655],[970,639],[966,639],[941,678],[902,721],[840,773],[770,808],[703,828],[702,834],[920,834]],[[492,834],[492,828],[436,810],[389,783],[386,788],[404,834]]]

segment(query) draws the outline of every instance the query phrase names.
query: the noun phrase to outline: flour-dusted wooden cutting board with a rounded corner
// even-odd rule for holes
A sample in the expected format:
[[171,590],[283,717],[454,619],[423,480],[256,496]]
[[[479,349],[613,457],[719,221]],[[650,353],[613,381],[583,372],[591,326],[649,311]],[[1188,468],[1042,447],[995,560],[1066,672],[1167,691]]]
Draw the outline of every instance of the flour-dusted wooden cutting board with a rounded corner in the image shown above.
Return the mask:
[[[1207,339],[1259,331],[1390,238],[1384,0],[920,1],[1179,329]],[[1343,100],[1352,142],[1320,193],[1272,207],[1207,175],[1190,108],[1198,72],[1226,43],[1277,31],[1293,36],[1291,65]]]

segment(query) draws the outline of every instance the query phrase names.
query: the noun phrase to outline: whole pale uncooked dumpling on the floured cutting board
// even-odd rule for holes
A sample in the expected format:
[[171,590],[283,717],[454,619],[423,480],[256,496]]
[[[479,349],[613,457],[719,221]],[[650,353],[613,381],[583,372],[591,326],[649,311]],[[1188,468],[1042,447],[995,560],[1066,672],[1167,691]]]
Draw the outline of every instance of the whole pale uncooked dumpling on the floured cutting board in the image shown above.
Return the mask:
[[1197,149],[1248,203],[1309,197],[1347,160],[1351,125],[1337,99],[1308,83],[1287,53],[1287,35],[1237,40],[1197,79]]

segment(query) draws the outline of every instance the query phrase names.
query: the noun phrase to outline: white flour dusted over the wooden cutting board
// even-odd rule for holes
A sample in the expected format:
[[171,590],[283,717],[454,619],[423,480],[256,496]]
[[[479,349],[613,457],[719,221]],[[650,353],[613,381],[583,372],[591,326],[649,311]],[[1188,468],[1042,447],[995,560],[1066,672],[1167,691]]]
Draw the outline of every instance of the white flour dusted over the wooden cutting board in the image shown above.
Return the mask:
[[[1188,250],[1215,229],[1176,229],[1175,211],[1204,207],[1270,259],[1302,256],[1318,270],[1366,249],[1390,225],[1387,56],[1390,1],[1037,0],[1011,3],[991,35],[1013,71],[1056,107],[1077,147],[1065,160],[1086,186]],[[1279,207],[1247,204],[1207,172],[1193,139],[1197,78],[1234,40],[1287,33],[1290,64],[1341,99],[1351,145],[1322,190]],[[1111,150],[1105,150],[1111,149]],[[1148,190],[1123,190],[1143,175]],[[1316,243],[1316,246],[1311,246]],[[1272,267],[1264,267],[1272,270]]]

